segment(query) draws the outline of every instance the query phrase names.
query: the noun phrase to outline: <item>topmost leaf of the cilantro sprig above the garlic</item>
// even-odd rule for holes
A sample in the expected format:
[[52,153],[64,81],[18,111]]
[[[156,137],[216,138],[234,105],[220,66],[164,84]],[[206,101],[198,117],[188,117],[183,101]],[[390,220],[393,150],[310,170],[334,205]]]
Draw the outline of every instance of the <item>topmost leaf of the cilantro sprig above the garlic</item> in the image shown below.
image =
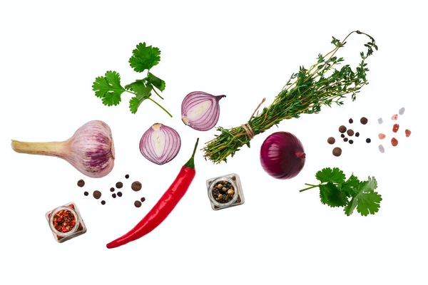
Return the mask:
[[159,48],[146,46],[146,43],[138,43],[132,53],[133,56],[129,58],[129,63],[136,72],[143,72],[146,69],[150,69],[161,61],[161,51]]

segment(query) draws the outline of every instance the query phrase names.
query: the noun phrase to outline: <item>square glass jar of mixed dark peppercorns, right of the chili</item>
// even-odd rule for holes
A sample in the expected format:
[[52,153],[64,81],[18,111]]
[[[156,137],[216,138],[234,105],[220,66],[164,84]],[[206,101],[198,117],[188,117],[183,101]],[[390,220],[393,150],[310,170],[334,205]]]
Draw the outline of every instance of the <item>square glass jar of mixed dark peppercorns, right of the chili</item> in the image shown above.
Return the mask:
[[240,177],[236,173],[210,178],[206,185],[213,210],[226,209],[245,202]]

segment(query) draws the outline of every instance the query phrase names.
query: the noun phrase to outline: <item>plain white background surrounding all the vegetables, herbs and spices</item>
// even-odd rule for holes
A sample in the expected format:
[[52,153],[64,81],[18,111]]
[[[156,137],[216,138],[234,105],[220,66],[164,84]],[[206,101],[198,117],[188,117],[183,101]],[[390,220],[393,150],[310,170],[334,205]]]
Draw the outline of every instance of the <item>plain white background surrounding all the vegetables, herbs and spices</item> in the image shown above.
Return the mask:
[[[423,1],[2,1],[1,237],[0,284],[427,284],[426,66],[427,18]],[[197,152],[196,177],[168,219],[151,234],[116,249],[106,244],[128,232],[173,182],[196,138],[213,138],[180,121],[184,96],[194,90],[220,101],[218,125],[245,123],[265,97],[267,106],[299,66],[330,51],[331,37],[355,29],[370,33],[379,51],[368,60],[368,79],[357,100],[322,108],[318,115],[287,120],[258,135],[227,164],[213,165]],[[122,83],[139,74],[128,66],[137,43],[161,48],[152,69],[166,89],[161,102],[128,110],[130,95],[116,107],[96,98],[96,76],[118,71]],[[340,55],[357,63],[362,36],[352,36]],[[390,117],[399,108],[399,145]],[[369,124],[358,123],[361,116]],[[364,133],[354,145],[341,142],[333,157],[326,140],[354,118]],[[384,118],[378,125],[377,118]],[[101,179],[83,177],[63,160],[13,152],[10,140],[66,140],[88,120],[110,125],[116,164]],[[182,147],[167,165],[153,165],[138,150],[141,135],[164,123],[181,135]],[[260,166],[259,151],[270,133],[289,131],[307,152],[292,180],[275,180]],[[372,138],[369,145],[365,137]],[[320,203],[319,192],[300,193],[322,167],[349,176],[374,176],[382,195],[377,214],[347,217]],[[246,202],[213,211],[205,180],[237,172]],[[131,175],[129,180],[124,175]],[[86,185],[76,186],[83,178]],[[131,182],[143,183],[141,192]],[[123,197],[108,189],[124,182]],[[83,191],[100,190],[100,200]],[[146,197],[141,208],[133,201]],[[44,214],[76,202],[88,232],[63,244],[54,241]],[[72,280],[71,280],[72,279]]]

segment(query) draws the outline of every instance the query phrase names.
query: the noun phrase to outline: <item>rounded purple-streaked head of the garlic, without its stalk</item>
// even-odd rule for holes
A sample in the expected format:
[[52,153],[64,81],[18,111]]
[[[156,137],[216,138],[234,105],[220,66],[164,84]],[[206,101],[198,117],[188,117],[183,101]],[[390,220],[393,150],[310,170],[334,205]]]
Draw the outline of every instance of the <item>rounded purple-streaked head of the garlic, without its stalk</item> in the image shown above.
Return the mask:
[[92,120],[82,125],[65,144],[73,155],[61,158],[70,162],[84,175],[99,178],[113,170],[113,137],[110,127],[101,120]]

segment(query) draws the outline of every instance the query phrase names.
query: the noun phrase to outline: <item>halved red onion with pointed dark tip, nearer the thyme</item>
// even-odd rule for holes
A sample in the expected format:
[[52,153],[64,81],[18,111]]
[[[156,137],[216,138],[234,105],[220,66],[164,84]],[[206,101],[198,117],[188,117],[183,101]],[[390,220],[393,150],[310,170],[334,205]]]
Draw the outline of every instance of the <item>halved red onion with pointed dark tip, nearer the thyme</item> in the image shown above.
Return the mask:
[[181,120],[195,130],[214,128],[220,117],[218,101],[226,95],[211,95],[202,91],[189,93],[181,103]]

